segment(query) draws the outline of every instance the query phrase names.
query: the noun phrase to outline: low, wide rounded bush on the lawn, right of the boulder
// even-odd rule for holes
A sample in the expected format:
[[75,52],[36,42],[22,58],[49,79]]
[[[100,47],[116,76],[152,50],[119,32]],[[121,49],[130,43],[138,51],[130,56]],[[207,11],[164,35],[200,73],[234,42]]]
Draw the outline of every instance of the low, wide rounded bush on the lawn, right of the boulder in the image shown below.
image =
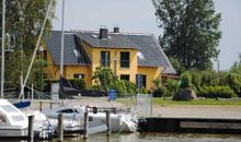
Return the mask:
[[237,95],[229,86],[205,86],[198,92],[197,96],[206,98],[231,98]]

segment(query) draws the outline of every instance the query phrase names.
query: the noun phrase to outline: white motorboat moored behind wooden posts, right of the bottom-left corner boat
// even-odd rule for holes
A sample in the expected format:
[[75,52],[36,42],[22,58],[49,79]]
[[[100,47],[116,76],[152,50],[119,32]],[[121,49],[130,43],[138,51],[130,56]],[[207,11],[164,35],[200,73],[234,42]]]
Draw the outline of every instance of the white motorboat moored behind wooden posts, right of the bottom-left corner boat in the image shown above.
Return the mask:
[[[49,117],[57,119],[58,114],[62,114],[64,118],[83,121],[85,107],[83,106],[64,106],[55,109],[43,110]],[[118,113],[111,114],[111,131],[113,132],[134,132],[136,131],[136,117],[130,114]],[[89,131],[93,133],[94,129],[105,131],[106,128],[106,114],[105,113],[89,113]]]

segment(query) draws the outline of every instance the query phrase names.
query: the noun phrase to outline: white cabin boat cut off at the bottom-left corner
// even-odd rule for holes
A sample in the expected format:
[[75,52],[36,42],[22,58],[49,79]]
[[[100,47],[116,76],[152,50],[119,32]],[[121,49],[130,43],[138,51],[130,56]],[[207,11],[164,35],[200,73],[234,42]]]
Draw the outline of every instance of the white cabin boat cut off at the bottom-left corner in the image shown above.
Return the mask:
[[27,117],[7,99],[0,99],[0,135],[26,135]]

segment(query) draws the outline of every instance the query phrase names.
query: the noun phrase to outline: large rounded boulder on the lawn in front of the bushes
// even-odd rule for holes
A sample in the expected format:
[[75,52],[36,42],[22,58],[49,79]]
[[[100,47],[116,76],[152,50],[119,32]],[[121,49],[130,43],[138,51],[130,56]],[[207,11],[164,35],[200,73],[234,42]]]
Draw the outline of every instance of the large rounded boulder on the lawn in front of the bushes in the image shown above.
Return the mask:
[[196,99],[196,93],[192,88],[182,88],[173,95],[173,100],[193,100]]

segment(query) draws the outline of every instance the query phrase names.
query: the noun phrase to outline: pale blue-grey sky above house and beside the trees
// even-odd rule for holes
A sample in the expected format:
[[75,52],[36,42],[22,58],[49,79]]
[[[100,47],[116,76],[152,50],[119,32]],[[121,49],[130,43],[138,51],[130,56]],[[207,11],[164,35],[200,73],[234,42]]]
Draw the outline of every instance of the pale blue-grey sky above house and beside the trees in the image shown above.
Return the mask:
[[[57,0],[54,29],[61,29],[62,0]],[[238,61],[241,52],[241,0],[215,0],[217,12],[221,13],[220,39],[218,49],[220,70],[228,70]],[[65,29],[99,31],[105,26],[113,31],[150,33],[158,37],[161,29],[154,15],[151,0],[65,0]],[[214,61],[214,69],[217,69]]]

